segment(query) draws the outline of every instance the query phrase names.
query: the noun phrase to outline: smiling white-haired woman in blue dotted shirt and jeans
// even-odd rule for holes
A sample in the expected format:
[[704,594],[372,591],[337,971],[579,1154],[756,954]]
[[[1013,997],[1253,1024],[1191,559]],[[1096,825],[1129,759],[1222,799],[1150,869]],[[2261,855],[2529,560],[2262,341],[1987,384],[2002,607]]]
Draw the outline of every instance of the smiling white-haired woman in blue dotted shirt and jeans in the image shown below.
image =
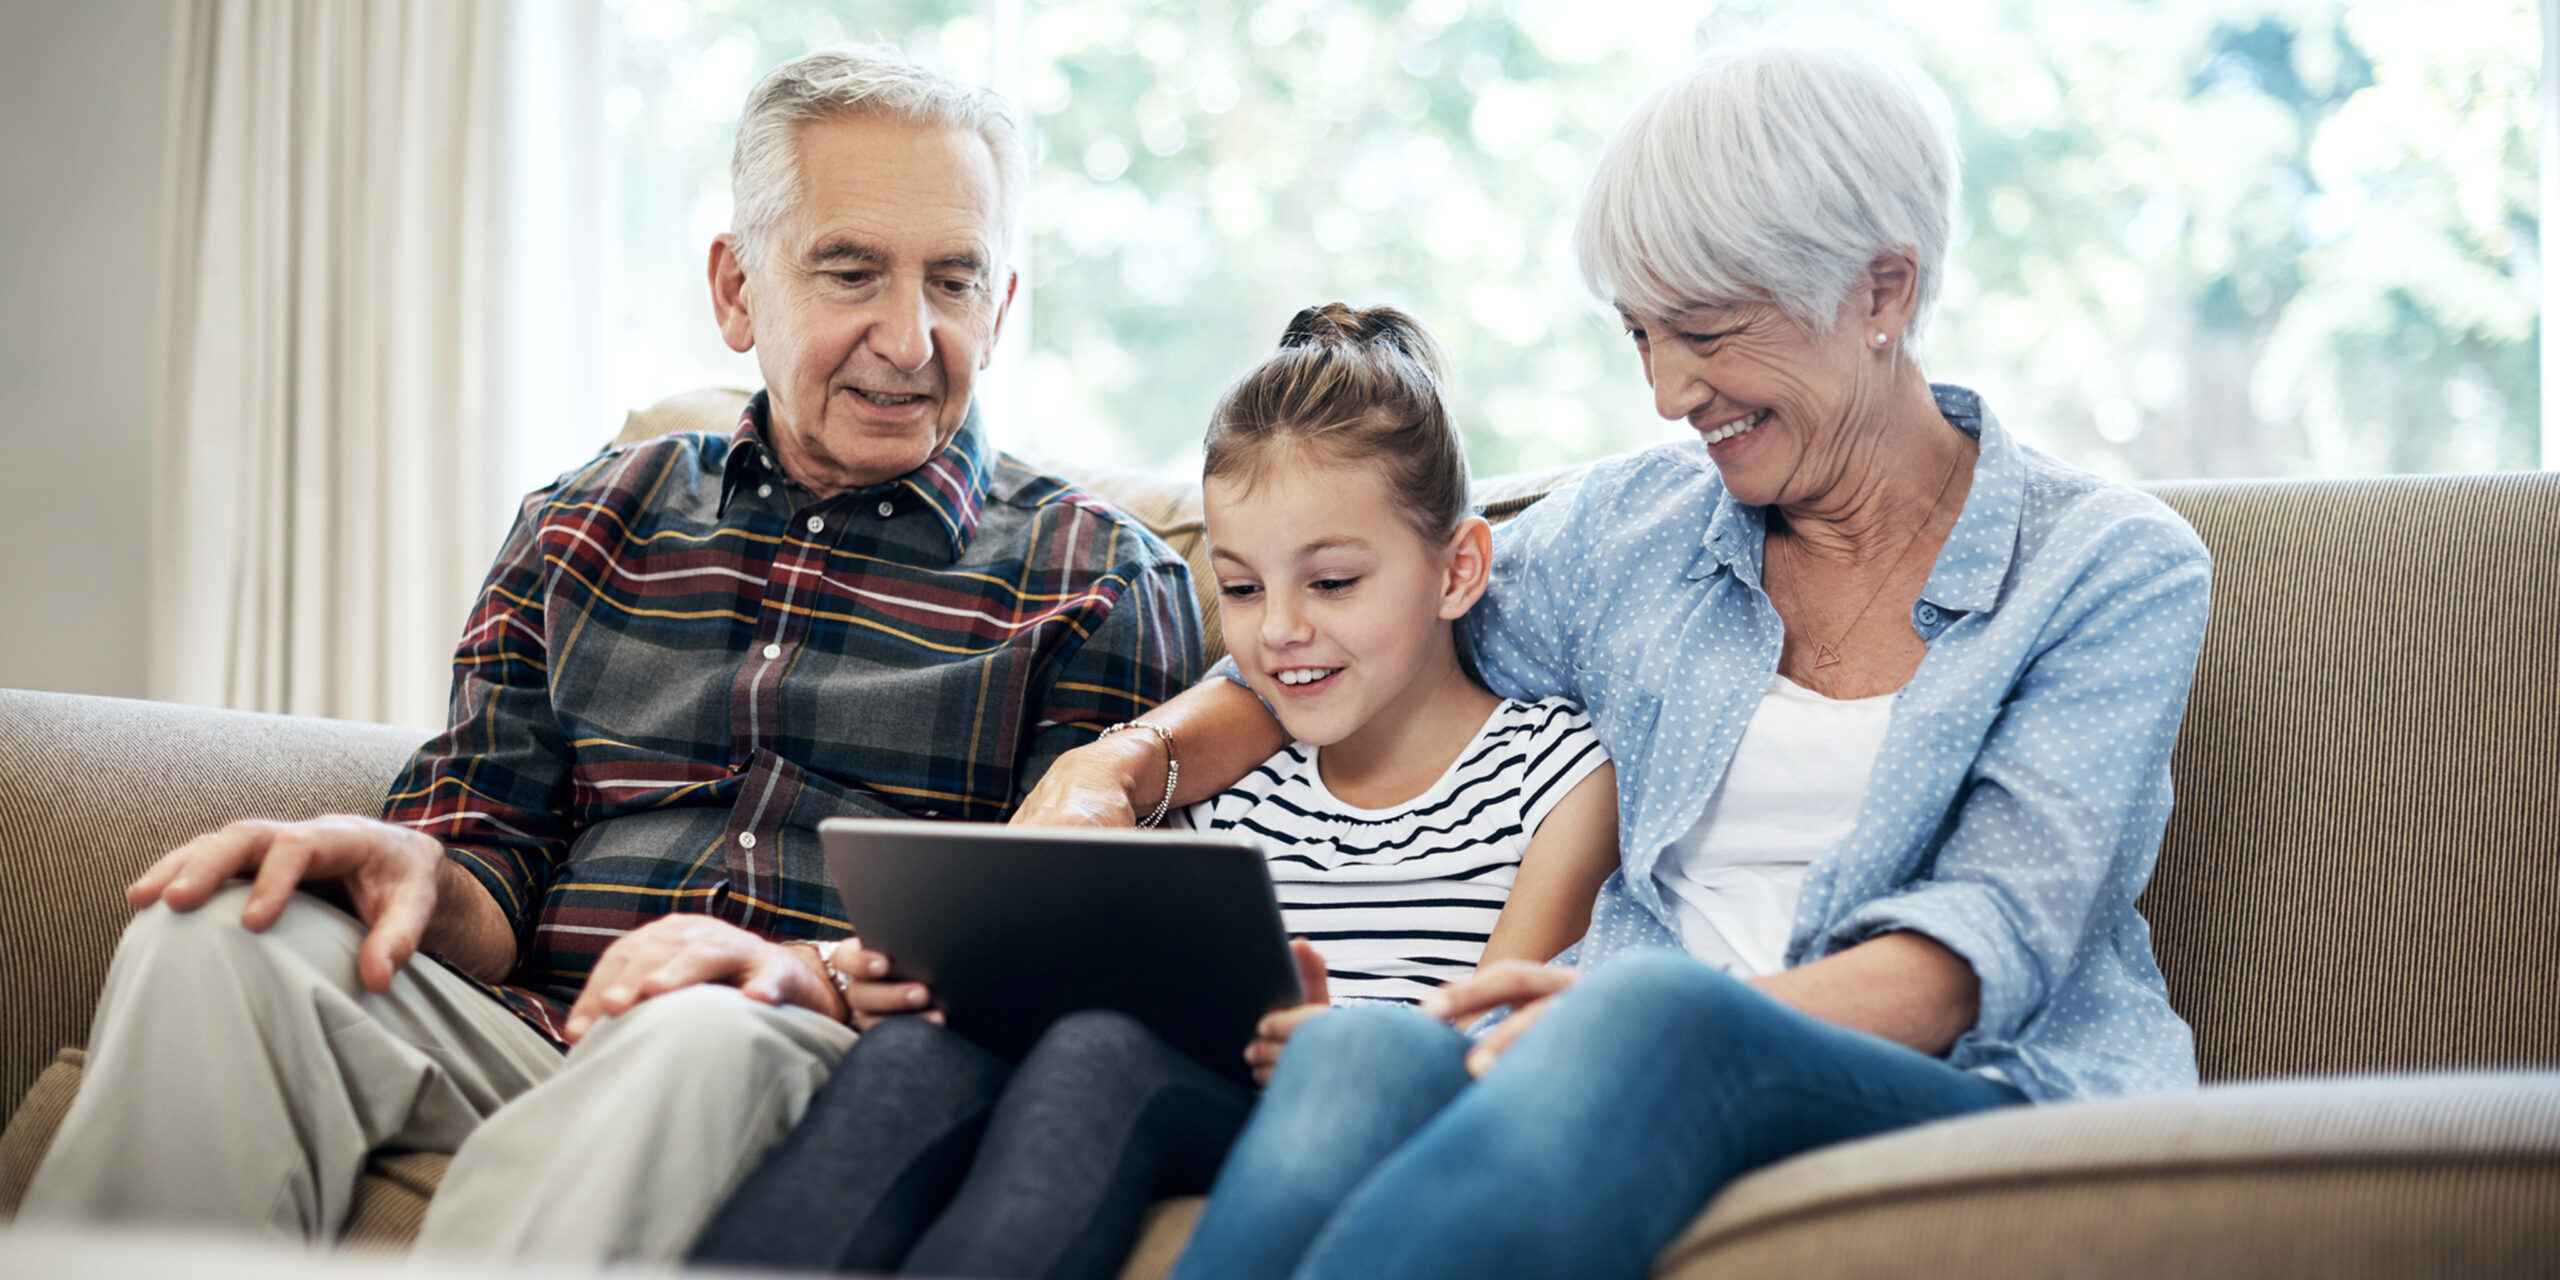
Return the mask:
[[[2135,899],[2207,556],[1923,376],[1953,197],[1946,100],[1889,54],[1723,51],[1610,141],[1580,266],[1697,440],[1503,527],[1467,645],[1590,707],[1623,865],[1580,970],[1308,1021],[1183,1275],[1641,1275],[1784,1155],[2194,1080]],[[1178,799],[1277,745],[1219,681],[1147,719]],[[1024,819],[1165,786],[1119,735]]]

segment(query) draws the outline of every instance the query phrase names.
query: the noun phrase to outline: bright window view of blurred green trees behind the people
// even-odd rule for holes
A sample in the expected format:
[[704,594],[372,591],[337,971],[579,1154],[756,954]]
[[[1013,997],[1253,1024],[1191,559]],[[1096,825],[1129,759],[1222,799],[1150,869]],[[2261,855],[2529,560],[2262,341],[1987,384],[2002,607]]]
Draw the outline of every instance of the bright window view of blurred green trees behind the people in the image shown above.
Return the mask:
[[[1608,131],[1700,49],[1856,23],[1956,102],[1940,381],[2122,479],[2529,468],[2532,0],[617,0],[620,389],[740,369],[704,325],[737,102],[891,41],[1019,67],[1024,451],[1183,471],[1308,302],[1413,310],[1480,474],[1684,433],[1569,259]],[[998,26],[1004,23],[1004,26]],[[727,358],[727,366],[717,361]],[[745,376],[753,376],[748,366]],[[732,376],[735,381],[735,376]]]

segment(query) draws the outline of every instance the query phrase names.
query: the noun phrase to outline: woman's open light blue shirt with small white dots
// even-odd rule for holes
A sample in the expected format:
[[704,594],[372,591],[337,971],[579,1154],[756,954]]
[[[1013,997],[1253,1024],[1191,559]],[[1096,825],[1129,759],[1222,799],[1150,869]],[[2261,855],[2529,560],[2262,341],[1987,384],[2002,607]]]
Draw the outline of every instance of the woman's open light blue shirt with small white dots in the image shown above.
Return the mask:
[[[1856,827],[1805,870],[1787,965],[1912,929],[1981,978],[1956,1068],[2030,1098],[2191,1085],[2132,904],[2204,643],[2204,543],[2158,499],[2020,445],[1974,392],[1935,394],[1981,458],[1912,607],[1928,658]],[[1500,696],[1582,701],[1618,763],[1620,870],[1574,963],[1679,945],[1654,868],[1777,671],[1761,535],[1700,443],[1603,461],[1495,532],[1464,627],[1477,671]]]

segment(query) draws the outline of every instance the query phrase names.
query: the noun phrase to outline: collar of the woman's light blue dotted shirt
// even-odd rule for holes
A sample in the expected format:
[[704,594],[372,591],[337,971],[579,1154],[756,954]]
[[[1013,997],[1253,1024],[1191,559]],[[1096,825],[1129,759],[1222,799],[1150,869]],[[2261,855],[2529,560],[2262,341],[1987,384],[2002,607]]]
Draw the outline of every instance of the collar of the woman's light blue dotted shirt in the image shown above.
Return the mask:
[[[1981,612],[1999,604],[1999,584],[2010,576],[2010,558],[2017,550],[2017,515],[2025,507],[2028,471],[2017,456],[2017,440],[1981,407],[1981,397],[1969,387],[1933,381],[1930,397],[1938,415],[1956,430],[1981,440],[1974,461],[1974,486],[1964,497],[1964,512],[1946,535],[1938,566],[1920,589],[1920,599],[1953,612]],[[1715,466],[1715,463],[1700,463]],[[1746,507],[1731,489],[1718,486],[1715,512],[1700,538],[1697,556],[1690,558],[1690,579],[1713,576],[1731,568],[1736,579],[1759,586],[1761,548],[1769,538],[1769,512]]]

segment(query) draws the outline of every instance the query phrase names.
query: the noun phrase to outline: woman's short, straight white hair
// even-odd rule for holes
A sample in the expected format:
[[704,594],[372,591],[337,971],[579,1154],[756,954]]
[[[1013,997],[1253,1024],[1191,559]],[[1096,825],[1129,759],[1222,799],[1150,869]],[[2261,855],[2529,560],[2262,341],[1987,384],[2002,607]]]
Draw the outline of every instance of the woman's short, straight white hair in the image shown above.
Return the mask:
[[1889,49],[1774,38],[1654,90],[1600,151],[1574,261],[1638,317],[1774,302],[1830,335],[1876,253],[1910,248],[1928,328],[1956,215],[1946,92]]

